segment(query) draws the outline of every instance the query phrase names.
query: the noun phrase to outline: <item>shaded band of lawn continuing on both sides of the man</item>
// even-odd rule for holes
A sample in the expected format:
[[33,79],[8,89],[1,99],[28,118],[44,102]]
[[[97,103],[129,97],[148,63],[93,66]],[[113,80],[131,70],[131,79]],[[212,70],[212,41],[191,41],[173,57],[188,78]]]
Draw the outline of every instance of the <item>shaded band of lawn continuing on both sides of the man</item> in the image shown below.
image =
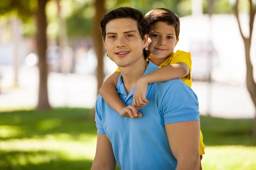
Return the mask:
[[[52,111],[0,112],[0,140],[44,137],[49,134],[69,134],[73,140],[79,135],[97,134],[90,109],[54,108]],[[252,119],[221,119],[201,116],[201,130],[206,146],[256,146],[252,137]]]

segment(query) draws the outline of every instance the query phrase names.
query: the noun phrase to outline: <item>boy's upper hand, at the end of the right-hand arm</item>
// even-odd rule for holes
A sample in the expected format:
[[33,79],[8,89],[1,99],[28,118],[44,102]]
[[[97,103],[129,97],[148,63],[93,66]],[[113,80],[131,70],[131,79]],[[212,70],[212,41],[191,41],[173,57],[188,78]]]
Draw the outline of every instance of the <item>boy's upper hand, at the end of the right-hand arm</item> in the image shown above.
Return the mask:
[[144,107],[148,104],[148,100],[146,99],[146,93],[148,89],[148,83],[141,77],[138,79],[133,96],[133,105],[136,107]]

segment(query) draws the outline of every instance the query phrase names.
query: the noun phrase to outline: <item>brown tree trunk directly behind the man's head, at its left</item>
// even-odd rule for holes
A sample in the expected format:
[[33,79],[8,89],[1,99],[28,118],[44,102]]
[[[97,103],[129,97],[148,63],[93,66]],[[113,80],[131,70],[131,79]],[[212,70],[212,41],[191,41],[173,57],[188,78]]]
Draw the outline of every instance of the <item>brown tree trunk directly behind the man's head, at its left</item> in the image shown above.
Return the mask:
[[[98,59],[97,66],[97,94],[99,94],[99,89],[101,88],[104,80],[104,68],[103,68],[103,42],[102,42],[102,34],[100,32],[100,21],[102,17],[106,14],[105,9],[105,0],[96,0],[94,3],[95,8],[95,16],[93,22],[93,43],[94,50]],[[93,109],[92,113],[93,117],[95,116],[95,109]]]

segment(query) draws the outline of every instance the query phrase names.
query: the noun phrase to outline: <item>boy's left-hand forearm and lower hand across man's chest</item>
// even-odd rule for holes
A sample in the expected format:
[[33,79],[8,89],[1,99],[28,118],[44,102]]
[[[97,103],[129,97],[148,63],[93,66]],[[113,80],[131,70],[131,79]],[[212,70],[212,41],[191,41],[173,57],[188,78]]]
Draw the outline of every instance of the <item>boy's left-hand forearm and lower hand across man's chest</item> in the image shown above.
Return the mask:
[[120,72],[115,72],[108,77],[108,79],[106,79],[102,87],[99,89],[99,94],[102,96],[105,102],[121,116],[130,118],[141,117],[141,113],[137,112],[137,108],[135,108],[135,106],[126,106],[117,94],[116,84],[119,76]]

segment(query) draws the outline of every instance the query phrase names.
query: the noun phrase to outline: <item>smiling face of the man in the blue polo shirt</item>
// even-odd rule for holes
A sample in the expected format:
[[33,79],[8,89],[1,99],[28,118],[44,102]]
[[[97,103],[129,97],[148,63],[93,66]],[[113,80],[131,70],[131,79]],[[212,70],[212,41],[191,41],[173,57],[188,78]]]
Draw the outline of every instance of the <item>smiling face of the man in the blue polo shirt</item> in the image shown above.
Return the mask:
[[141,39],[135,20],[114,19],[106,25],[106,38],[103,42],[108,57],[119,67],[126,67],[143,57],[148,35],[145,35],[144,40]]

